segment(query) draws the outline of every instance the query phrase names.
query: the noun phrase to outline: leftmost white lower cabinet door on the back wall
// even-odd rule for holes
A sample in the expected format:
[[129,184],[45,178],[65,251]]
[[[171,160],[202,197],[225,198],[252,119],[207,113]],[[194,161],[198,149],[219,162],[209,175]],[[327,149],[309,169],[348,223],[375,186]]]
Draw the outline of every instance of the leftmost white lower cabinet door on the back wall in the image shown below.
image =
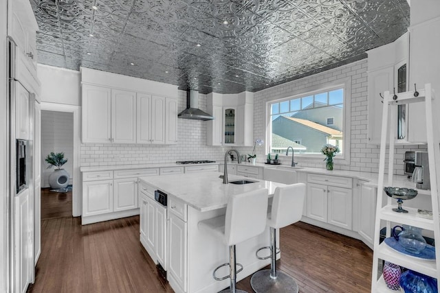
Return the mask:
[[113,211],[113,180],[83,183],[83,220],[91,215]]

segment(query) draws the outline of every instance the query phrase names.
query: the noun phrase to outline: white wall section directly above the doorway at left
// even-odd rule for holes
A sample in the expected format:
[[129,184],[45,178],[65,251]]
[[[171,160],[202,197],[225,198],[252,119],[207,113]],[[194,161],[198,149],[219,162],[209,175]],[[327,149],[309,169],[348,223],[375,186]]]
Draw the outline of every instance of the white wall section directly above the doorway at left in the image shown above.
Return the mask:
[[43,102],[81,105],[80,71],[38,65]]

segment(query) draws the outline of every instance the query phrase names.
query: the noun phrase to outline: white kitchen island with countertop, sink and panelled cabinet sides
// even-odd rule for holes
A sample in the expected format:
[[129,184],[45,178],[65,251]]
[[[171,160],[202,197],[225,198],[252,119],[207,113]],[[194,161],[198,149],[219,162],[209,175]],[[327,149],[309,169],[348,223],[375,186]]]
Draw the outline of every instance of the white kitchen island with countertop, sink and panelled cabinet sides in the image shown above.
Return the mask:
[[[229,287],[229,279],[212,278],[214,269],[229,261],[228,246],[217,237],[201,233],[199,221],[225,214],[228,198],[234,194],[268,189],[272,197],[276,187],[284,186],[257,179],[245,185],[225,185],[219,178],[221,175],[206,172],[140,178],[141,242],[153,260],[167,271],[166,278],[175,292],[218,292]],[[230,182],[239,179],[243,177],[229,176]],[[155,190],[168,196],[164,225],[158,223],[158,219],[164,219],[164,208],[161,212],[158,203],[151,202]],[[152,224],[155,220],[157,224]],[[236,246],[237,262],[243,264],[243,271],[237,274],[238,281],[270,264],[270,259],[260,260],[255,256],[258,248],[269,245],[269,228],[266,228],[261,235]],[[227,267],[218,272],[219,276],[226,274]]]

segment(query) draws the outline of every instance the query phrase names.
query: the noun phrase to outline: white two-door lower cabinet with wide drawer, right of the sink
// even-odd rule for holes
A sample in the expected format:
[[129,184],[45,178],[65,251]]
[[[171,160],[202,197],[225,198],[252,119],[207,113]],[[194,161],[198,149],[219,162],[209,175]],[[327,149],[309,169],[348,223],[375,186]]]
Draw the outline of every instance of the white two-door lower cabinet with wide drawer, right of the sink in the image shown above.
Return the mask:
[[308,174],[307,181],[307,217],[351,230],[352,178]]

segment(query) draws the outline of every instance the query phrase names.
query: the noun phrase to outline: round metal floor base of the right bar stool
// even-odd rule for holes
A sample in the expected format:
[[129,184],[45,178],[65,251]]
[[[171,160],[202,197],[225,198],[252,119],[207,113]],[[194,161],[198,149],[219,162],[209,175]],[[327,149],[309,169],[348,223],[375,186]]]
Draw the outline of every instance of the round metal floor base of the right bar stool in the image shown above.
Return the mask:
[[260,270],[252,275],[250,285],[256,293],[298,293],[298,284],[292,276],[278,270],[276,279],[272,279],[270,272],[271,270]]

